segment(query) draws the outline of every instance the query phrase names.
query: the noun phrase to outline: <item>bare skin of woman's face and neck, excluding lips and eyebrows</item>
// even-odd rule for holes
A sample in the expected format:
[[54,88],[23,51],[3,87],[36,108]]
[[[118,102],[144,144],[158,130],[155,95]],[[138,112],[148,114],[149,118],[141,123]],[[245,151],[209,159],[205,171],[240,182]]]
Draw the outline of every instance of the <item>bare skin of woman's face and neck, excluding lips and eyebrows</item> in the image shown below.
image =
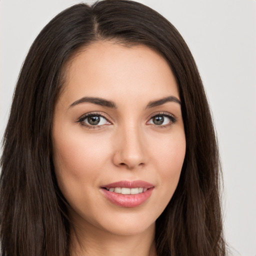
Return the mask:
[[[111,41],[87,46],[66,66],[52,140],[58,185],[70,204],[71,254],[156,255],[155,220],[177,186],[185,134],[179,103],[146,106],[168,96],[179,99],[171,69],[146,46]],[[77,103],[82,97],[111,100],[115,107]],[[86,113],[104,117],[90,125],[81,118]],[[154,123],[155,114],[163,124]],[[141,205],[121,207],[100,191],[120,180],[144,180],[154,188]]]

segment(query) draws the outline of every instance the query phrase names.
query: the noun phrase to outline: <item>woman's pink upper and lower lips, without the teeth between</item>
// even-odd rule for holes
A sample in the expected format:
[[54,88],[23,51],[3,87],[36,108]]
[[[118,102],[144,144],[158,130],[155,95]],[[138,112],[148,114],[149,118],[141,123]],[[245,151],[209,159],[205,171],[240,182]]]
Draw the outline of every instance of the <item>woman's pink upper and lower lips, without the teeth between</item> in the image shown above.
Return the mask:
[[[143,187],[147,188],[145,192],[138,193],[138,194],[121,194],[110,192],[105,188],[109,189],[111,187],[127,187],[127,188],[134,188],[134,187]],[[113,204],[121,206],[121,207],[136,207],[141,205],[145,202],[151,195],[154,186],[151,183],[148,183],[143,180],[134,180],[134,181],[117,181],[113,183],[109,183],[106,185],[102,185],[100,191],[103,195]]]

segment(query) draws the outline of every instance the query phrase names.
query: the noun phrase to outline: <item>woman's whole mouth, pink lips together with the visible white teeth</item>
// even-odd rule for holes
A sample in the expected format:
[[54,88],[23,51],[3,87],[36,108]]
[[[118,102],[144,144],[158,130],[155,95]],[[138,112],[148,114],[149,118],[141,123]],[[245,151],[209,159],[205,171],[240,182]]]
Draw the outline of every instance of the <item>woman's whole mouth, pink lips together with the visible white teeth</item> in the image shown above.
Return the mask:
[[154,186],[143,180],[117,181],[102,185],[100,191],[113,204],[121,207],[136,207],[151,195]]

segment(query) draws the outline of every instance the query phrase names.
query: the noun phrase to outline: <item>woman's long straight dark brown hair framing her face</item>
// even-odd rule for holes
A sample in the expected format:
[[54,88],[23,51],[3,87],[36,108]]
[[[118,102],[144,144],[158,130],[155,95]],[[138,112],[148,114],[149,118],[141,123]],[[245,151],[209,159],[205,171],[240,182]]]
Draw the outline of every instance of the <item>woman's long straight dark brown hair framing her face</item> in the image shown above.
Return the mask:
[[69,255],[67,206],[51,158],[52,111],[64,64],[78,48],[97,40],[156,50],[169,63],[178,84],[186,153],[177,188],[156,220],[158,255],[225,255],[218,150],[194,59],[169,21],[127,0],[73,5],[56,15],[30,47],[3,138],[1,255]]

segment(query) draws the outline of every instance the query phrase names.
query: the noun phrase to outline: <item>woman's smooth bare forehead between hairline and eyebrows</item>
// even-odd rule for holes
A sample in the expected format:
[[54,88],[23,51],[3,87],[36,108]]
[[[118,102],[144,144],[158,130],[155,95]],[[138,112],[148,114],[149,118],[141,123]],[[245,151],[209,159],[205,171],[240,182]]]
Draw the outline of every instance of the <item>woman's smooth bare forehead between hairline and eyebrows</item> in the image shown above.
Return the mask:
[[61,96],[68,101],[81,96],[112,100],[118,100],[120,96],[139,96],[140,100],[166,95],[179,98],[176,81],[167,61],[144,45],[95,42],[78,50],[67,62],[65,71]]

